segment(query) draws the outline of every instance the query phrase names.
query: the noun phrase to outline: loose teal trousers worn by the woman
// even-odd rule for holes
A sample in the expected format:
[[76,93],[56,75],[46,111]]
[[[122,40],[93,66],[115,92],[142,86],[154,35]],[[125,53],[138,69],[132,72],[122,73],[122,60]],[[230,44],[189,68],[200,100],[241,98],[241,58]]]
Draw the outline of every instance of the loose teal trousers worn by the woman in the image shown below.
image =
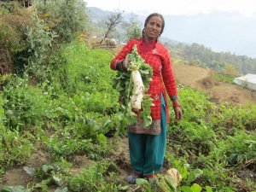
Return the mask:
[[159,135],[128,133],[131,165],[135,172],[151,176],[160,172],[166,150],[166,102],[161,96],[161,132]]

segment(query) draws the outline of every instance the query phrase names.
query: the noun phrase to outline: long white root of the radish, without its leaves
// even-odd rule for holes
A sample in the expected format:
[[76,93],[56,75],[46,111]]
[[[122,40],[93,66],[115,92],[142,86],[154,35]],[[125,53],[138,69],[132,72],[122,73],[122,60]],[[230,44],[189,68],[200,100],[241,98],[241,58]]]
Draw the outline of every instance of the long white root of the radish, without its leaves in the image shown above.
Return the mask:
[[131,108],[134,110],[140,110],[143,102],[144,85],[141,73],[139,71],[131,72],[131,79],[133,83],[133,91],[131,96]]

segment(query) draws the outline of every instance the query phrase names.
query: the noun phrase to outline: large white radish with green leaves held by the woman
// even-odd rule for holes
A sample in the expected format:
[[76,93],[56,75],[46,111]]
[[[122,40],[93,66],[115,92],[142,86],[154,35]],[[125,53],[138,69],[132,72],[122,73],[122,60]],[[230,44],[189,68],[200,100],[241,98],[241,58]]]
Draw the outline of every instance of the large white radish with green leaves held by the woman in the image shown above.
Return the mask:
[[130,60],[128,70],[119,72],[113,79],[113,86],[119,91],[119,103],[121,113],[119,119],[123,127],[137,122],[137,113],[143,119],[143,125],[151,125],[150,106],[153,99],[147,94],[149,82],[153,70],[137,53],[137,45],[134,45],[130,54],[125,59]]

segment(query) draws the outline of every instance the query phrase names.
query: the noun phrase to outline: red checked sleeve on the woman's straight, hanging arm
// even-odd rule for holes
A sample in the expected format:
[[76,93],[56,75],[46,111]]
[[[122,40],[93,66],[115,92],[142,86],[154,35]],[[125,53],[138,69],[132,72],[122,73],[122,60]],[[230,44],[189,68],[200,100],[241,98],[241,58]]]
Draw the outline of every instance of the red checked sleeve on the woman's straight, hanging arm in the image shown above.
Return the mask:
[[168,53],[167,49],[165,49],[164,51],[162,66],[162,77],[166,86],[166,91],[172,99],[177,98],[177,86],[175,82],[174,73],[172,70],[171,56]]

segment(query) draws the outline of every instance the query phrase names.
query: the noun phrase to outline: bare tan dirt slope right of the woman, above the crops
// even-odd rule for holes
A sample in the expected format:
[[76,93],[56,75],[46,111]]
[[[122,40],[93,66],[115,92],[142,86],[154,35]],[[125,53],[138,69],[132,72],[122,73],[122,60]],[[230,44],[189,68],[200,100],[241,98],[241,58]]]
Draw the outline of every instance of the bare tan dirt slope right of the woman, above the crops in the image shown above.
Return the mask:
[[177,82],[203,90],[215,101],[236,105],[256,103],[255,91],[213,79],[215,72],[212,69],[177,64],[173,65],[173,70]]

